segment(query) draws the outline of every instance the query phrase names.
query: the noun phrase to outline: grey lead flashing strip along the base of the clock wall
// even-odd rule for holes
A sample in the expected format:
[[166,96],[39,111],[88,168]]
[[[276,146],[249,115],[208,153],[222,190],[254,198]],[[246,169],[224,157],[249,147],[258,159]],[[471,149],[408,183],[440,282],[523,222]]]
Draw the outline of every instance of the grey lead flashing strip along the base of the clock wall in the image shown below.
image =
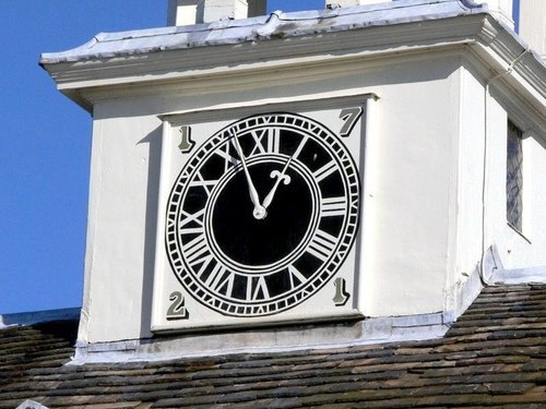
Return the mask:
[[96,362],[165,361],[228,353],[264,353],[321,350],[396,341],[441,338],[452,323],[444,314],[370,317],[358,322],[261,328],[219,334],[130,339],[112,342],[76,342],[73,365]]

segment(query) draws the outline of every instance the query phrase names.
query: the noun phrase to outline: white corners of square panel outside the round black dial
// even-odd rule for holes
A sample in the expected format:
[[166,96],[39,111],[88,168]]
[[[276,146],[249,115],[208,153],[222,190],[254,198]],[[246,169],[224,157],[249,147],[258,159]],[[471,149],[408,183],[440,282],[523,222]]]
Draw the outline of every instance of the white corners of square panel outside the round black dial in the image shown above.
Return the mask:
[[[354,318],[354,317],[363,317],[363,313],[360,312],[360,301],[358,300],[358,277],[357,270],[359,265],[359,254],[360,254],[360,241],[359,237],[361,236],[360,231],[360,220],[361,220],[361,212],[363,212],[363,164],[364,164],[364,146],[365,146],[365,128],[367,125],[366,118],[366,109],[368,101],[370,100],[370,96],[357,96],[357,97],[345,97],[345,98],[333,98],[328,100],[313,100],[313,101],[299,101],[299,103],[289,103],[289,104],[277,104],[271,107],[262,108],[262,109],[253,109],[250,107],[240,107],[240,108],[232,108],[225,111],[202,111],[202,112],[186,112],[180,115],[168,115],[164,117],[159,117],[164,121],[164,143],[162,149],[162,169],[161,169],[161,187],[159,187],[159,214],[158,214],[158,224],[157,224],[157,242],[156,242],[156,262],[155,262],[155,273],[154,273],[154,294],[153,294],[153,313],[152,313],[152,330],[155,333],[162,332],[177,332],[177,330],[210,330],[211,328],[222,328],[222,327],[239,327],[239,326],[263,326],[263,325],[276,325],[277,323],[290,323],[290,322],[322,322],[322,321],[332,321],[340,320],[340,317],[345,318]],[[269,108],[269,109],[268,109]],[[329,113],[333,116],[337,116],[335,119],[335,125],[331,124],[321,124],[318,121],[321,119],[321,111],[332,112]],[[214,115],[210,115],[210,113]],[[221,115],[217,115],[217,113]],[[347,113],[348,112],[348,113]],[[355,115],[358,112],[358,115]],[[232,312],[223,310],[223,309],[214,309],[214,304],[211,305],[210,301],[214,298],[209,298],[203,302],[199,297],[194,297],[191,291],[188,291],[188,286],[195,286],[195,282],[189,279],[189,275],[178,275],[176,274],[176,269],[174,268],[173,260],[166,256],[165,242],[168,242],[166,237],[166,227],[168,221],[168,212],[165,212],[167,208],[167,203],[171,200],[171,195],[176,191],[177,183],[186,187],[189,179],[195,176],[194,167],[192,171],[186,171],[189,169],[189,164],[201,155],[201,159],[207,155],[200,154],[202,152],[203,146],[210,144],[215,139],[218,141],[226,140],[226,132],[233,130],[234,125],[242,123],[245,120],[254,117],[271,117],[273,115],[288,115],[297,118],[304,118],[309,120],[310,123],[318,123],[318,129],[321,129],[325,132],[327,135],[333,139],[333,141],[337,141],[341,146],[341,151],[346,151],[347,158],[352,163],[352,167],[354,169],[353,173],[356,179],[356,195],[358,203],[356,204],[357,209],[356,213],[353,214],[354,224],[353,231],[348,233],[348,239],[340,242],[334,246],[334,250],[340,248],[341,243],[344,243],[345,246],[343,250],[343,254],[341,256],[334,257],[335,251],[332,252],[329,260],[334,260],[335,263],[331,264],[331,272],[325,272],[325,268],[322,268],[324,273],[322,279],[320,279],[320,274],[317,274],[316,289],[307,289],[305,287],[311,288],[314,282],[312,279],[308,281],[309,286],[300,286],[300,299],[290,300],[294,302],[293,304],[286,306],[283,304],[282,298],[278,298],[273,301],[277,302],[280,308],[265,308],[263,305],[259,305],[260,302],[254,302],[250,309],[247,309],[246,312],[241,309],[237,310],[232,309]],[[319,118],[317,118],[319,116]],[[353,117],[352,117],[353,116]],[[215,120],[207,120],[207,118],[214,117]],[[242,118],[242,119],[237,119]],[[354,119],[354,121],[353,121]],[[210,122],[209,129],[216,128],[215,132],[209,132],[206,135],[198,135],[197,132],[193,133],[192,139],[187,137],[190,134],[191,128],[201,125],[201,123]],[[321,121],[322,122],[322,121]],[[352,123],[351,123],[352,122]],[[351,127],[348,127],[351,125]],[[333,130],[331,130],[332,128]],[[309,128],[307,129],[309,131]],[[317,131],[317,128],[314,128]],[[310,132],[310,131],[309,131]],[[345,132],[345,134],[343,134]],[[185,133],[186,140],[185,140]],[[203,132],[201,132],[202,134]],[[180,135],[182,142],[180,142]],[[239,135],[240,136],[240,135]],[[186,145],[185,145],[186,142]],[[244,140],[241,140],[242,144],[245,144]],[[177,146],[178,145],[178,146]],[[183,146],[192,146],[191,152],[183,151]],[[335,145],[335,143],[334,143]],[[167,149],[167,146],[179,148],[178,153],[173,153],[173,149]],[[211,146],[214,146],[211,145]],[[211,148],[212,149],[212,148]],[[206,149],[205,149],[206,151]],[[349,153],[351,151],[351,153]],[[209,154],[212,151],[209,151]],[[353,157],[355,155],[356,157]],[[269,152],[265,152],[269,154]],[[288,158],[288,154],[277,155],[278,153],[274,153],[272,157],[269,159],[265,158],[265,161],[277,161],[278,166],[286,165],[286,160]],[[185,160],[179,159],[178,156],[183,156]],[[203,156],[204,155],[204,156]],[[180,156],[180,157],[181,157]],[[235,155],[234,155],[235,156]],[[251,156],[251,155],[249,155]],[[344,155],[342,155],[344,157]],[[182,165],[176,165],[182,164]],[[195,163],[197,165],[197,163]],[[249,157],[248,158],[248,168],[254,172],[256,169],[259,169],[260,158]],[[298,164],[299,166],[299,164]],[[233,168],[232,173],[235,175],[237,172],[241,172],[241,163],[238,161]],[[174,169],[178,169],[177,171]],[[289,166],[289,169],[297,169],[294,167],[294,164]],[[186,182],[181,181],[183,179],[183,173],[186,171]],[[304,170],[299,170],[301,175],[305,173]],[[308,172],[309,173],[309,172]],[[309,177],[309,175],[305,176]],[[305,179],[301,177],[301,179]],[[180,183],[179,183],[180,182]],[[222,183],[227,184],[230,183],[229,177],[225,177],[222,180]],[[310,185],[313,183],[310,182]],[[283,187],[278,188],[280,190]],[[178,190],[178,194],[180,194],[181,190]],[[219,194],[219,191],[215,192],[215,194]],[[248,193],[247,193],[248,194]],[[263,201],[264,191],[263,189],[260,192],[261,199]],[[320,192],[319,192],[320,196]],[[348,195],[349,197],[353,197]],[[163,197],[163,199],[162,199]],[[281,197],[281,196],[280,196]],[[247,200],[250,199],[247,196]],[[276,199],[274,199],[275,201]],[[273,201],[273,204],[274,204]],[[320,197],[318,199],[320,201]],[[349,202],[352,199],[349,199]],[[272,206],[273,206],[272,204]],[[210,206],[210,205],[209,205]],[[335,207],[334,204],[329,205],[329,209],[331,212],[336,212],[339,207]],[[210,212],[210,210],[209,210]],[[318,212],[318,210],[317,210]],[[316,213],[317,213],[316,212]],[[318,217],[318,221],[320,221],[320,216]],[[346,220],[346,219],[345,219]],[[318,224],[316,220],[316,222]],[[344,221],[345,222],[345,221]],[[316,232],[316,228],[311,228],[311,230]],[[311,234],[312,236],[312,234]],[[343,237],[343,233],[340,233],[340,237]],[[165,238],[165,240],[164,240]],[[312,239],[312,238],[311,238]],[[307,249],[309,241],[302,244],[304,252]],[[163,244],[163,245],[162,245]],[[163,253],[163,254],[162,254]],[[296,251],[296,253],[298,253]],[[301,250],[299,251],[299,254]],[[298,255],[296,255],[297,258]],[[293,260],[294,257],[288,257]],[[288,260],[287,258],[287,260]],[[183,264],[183,263],[182,263]],[[328,267],[328,266],[327,266]],[[247,272],[248,273],[248,272]],[[262,270],[263,273],[263,270]],[[181,279],[180,279],[181,277]],[[257,277],[260,277],[260,268],[258,268]],[[335,278],[335,279],[334,279]],[[183,281],[186,279],[186,281]],[[227,281],[226,281],[227,282]],[[317,285],[318,282],[318,285]],[[328,286],[327,286],[328,285]],[[195,288],[199,286],[195,286]],[[205,289],[201,288],[200,291],[205,293]],[[330,302],[332,300],[331,306],[323,306],[321,302],[317,301],[318,297],[323,298],[324,293],[330,296],[325,296],[330,298]],[[332,296],[334,296],[332,299]],[[286,299],[287,297],[285,297]],[[313,301],[314,299],[314,301]],[[347,299],[351,299],[351,302],[347,302]],[[207,303],[209,302],[209,303]],[[222,301],[224,302],[224,301]],[[213,301],[214,303],[214,301]],[[199,306],[201,305],[201,306]],[[302,306],[301,306],[302,305]],[[313,306],[314,305],[314,306]],[[216,304],[217,306],[217,304]],[[269,309],[269,310],[268,310]],[[234,313],[235,311],[235,313]],[[242,311],[242,314],[241,314]],[[250,314],[249,314],[250,312]],[[253,314],[253,315],[252,315]]]

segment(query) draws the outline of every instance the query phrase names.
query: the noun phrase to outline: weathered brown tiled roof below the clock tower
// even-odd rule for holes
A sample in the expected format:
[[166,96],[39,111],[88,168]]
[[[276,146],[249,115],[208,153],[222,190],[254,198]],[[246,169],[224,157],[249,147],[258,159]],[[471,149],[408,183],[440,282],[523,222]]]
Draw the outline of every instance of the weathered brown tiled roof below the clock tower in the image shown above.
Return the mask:
[[75,322],[9,327],[0,408],[545,408],[545,310],[546,285],[487,287],[441,339],[84,365]]

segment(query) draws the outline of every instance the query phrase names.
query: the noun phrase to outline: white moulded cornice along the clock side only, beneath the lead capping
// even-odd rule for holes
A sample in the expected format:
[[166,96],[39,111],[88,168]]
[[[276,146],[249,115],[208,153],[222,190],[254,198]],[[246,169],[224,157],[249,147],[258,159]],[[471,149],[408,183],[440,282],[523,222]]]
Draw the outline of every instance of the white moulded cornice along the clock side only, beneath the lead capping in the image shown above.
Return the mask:
[[391,55],[419,48],[466,43],[476,36],[483,19],[483,15],[476,15],[466,20],[449,19],[259,43],[66,61],[46,64],[46,68],[61,89],[173,81],[256,67],[277,69],[316,61],[329,62],[355,56]]

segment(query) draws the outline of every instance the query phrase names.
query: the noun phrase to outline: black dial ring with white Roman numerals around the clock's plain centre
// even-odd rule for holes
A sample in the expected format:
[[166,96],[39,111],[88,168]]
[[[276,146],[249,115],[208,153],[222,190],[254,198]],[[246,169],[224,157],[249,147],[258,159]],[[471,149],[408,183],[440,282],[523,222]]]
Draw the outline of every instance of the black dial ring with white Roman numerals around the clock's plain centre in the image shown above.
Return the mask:
[[[261,140],[257,140],[257,135]],[[286,257],[266,266],[245,268],[240,264],[230,263],[229,257],[222,254],[222,250],[218,251],[218,243],[214,240],[215,229],[211,216],[214,199],[222,187],[229,182],[230,177],[242,173],[241,161],[230,163],[230,158],[235,157],[230,156],[235,155],[234,149],[230,149],[234,137],[242,140],[240,144],[248,140],[252,142],[254,137],[256,145],[248,156],[250,170],[252,165],[260,160],[268,161],[273,155],[276,155],[275,160],[292,158],[290,166],[294,169],[299,168],[301,173],[308,173],[308,184],[314,193],[311,194],[311,222],[305,238]],[[266,139],[265,147],[260,144],[263,139]],[[276,147],[272,140],[276,141]],[[283,140],[288,140],[288,144],[292,140],[297,140],[296,151],[286,147],[283,151]],[[304,158],[305,151],[311,144],[316,145],[314,156],[328,156],[325,165],[320,164],[319,168],[313,169],[313,173],[310,167],[316,158]],[[210,182],[207,176],[202,175],[203,168],[215,159],[225,161],[226,172],[218,180]],[[337,178],[331,181],[335,176]],[[327,182],[341,182],[343,194],[324,197],[323,192],[328,187],[321,189],[321,184]],[[188,214],[183,205],[199,194],[206,196],[205,205],[193,214]],[[359,196],[356,164],[339,137],[320,122],[292,112],[260,113],[237,120],[200,146],[175,182],[167,203],[165,234],[170,266],[186,291],[221,314],[257,317],[287,311],[312,297],[330,281],[345,261],[358,230]],[[245,201],[248,200],[245,194]],[[197,214],[202,215],[202,218],[198,219]],[[328,225],[328,221],[340,218],[342,220],[335,220],[340,225],[335,234],[321,229],[322,224]],[[200,229],[194,226],[201,224],[202,233],[194,233],[195,229]],[[192,227],[180,228],[180,225]],[[194,237],[195,234],[198,236]],[[186,237],[189,239],[185,240]],[[309,267],[310,265],[313,266]],[[289,281],[290,285],[286,288],[285,284],[283,291],[271,296],[274,289],[271,282],[276,282],[278,288],[280,281]],[[234,296],[235,285],[245,286],[239,297]]]

